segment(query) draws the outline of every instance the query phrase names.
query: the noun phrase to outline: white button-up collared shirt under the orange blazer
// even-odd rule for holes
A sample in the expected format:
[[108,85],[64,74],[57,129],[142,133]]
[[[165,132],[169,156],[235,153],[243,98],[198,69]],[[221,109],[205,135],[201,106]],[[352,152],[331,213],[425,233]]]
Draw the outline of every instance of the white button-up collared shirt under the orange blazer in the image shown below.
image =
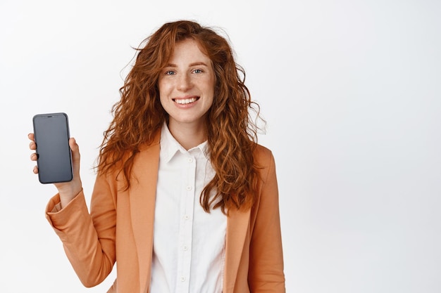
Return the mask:
[[156,187],[151,293],[221,293],[227,218],[202,209],[215,172],[207,143],[185,150],[164,124]]

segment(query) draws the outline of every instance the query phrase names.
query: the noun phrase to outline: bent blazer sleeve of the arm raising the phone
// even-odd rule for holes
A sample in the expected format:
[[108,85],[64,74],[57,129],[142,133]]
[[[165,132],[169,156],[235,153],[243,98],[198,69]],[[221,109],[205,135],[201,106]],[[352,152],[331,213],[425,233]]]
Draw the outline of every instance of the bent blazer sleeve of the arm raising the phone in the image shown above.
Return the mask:
[[[96,204],[99,202],[99,204]],[[92,195],[92,215],[81,191],[63,209],[59,195],[46,207],[46,219],[63,242],[70,263],[85,287],[101,283],[116,261],[116,204],[104,176],[98,176]]]

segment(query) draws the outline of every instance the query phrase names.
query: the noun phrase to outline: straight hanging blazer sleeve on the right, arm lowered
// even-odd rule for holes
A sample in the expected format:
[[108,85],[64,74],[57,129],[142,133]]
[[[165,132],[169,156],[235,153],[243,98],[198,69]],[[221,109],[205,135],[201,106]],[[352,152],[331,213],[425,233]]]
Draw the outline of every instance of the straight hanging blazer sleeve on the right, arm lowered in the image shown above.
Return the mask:
[[278,183],[275,161],[268,149],[263,149],[259,164],[261,190],[251,210],[251,242],[248,282],[251,292],[285,292],[282,236]]

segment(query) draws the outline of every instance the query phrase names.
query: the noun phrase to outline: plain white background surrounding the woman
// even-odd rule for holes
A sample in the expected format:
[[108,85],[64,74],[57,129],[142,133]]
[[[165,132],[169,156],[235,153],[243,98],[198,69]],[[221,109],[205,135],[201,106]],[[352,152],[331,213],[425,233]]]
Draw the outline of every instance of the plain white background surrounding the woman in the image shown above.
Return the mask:
[[[221,27],[268,121],[287,292],[441,292],[441,2],[0,2],[0,292],[82,287],[44,219],[32,116],[66,112],[87,194],[132,46]],[[89,199],[88,199],[89,200]]]

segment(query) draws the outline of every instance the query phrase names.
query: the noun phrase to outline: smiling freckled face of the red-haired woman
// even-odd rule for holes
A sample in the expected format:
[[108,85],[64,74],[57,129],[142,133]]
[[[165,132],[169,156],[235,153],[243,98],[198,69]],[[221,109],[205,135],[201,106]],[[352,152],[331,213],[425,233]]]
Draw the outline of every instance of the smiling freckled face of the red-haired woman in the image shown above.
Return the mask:
[[213,104],[215,75],[197,41],[176,43],[168,65],[159,75],[161,105],[169,115],[168,127],[205,129],[205,115]]

